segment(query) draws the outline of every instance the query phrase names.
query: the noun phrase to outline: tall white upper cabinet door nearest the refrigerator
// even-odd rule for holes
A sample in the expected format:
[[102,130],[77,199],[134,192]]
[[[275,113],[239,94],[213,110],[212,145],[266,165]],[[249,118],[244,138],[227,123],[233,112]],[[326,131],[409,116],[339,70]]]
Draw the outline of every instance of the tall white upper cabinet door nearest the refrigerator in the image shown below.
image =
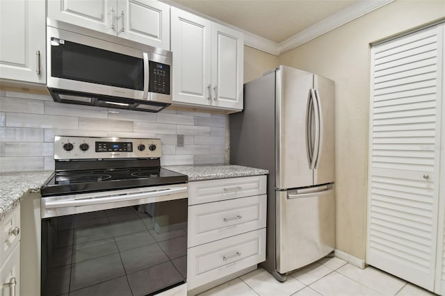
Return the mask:
[[243,109],[244,35],[212,24],[212,105]]

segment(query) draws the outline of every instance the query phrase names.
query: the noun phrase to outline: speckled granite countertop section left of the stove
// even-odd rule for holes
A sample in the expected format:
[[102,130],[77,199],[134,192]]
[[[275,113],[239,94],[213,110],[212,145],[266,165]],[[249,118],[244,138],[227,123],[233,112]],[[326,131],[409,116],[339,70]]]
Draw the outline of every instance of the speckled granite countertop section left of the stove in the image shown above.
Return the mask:
[[14,172],[0,174],[0,221],[31,192],[40,192],[52,172]]

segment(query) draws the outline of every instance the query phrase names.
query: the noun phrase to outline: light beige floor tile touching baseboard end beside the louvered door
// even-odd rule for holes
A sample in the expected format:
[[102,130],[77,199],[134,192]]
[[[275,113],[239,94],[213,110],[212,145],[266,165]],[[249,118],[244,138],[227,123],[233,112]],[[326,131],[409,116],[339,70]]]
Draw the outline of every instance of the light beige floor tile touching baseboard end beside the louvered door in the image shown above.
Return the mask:
[[398,290],[401,290],[406,283],[406,281],[371,266],[362,270],[361,268],[346,264],[339,268],[337,272],[387,296],[396,295]]

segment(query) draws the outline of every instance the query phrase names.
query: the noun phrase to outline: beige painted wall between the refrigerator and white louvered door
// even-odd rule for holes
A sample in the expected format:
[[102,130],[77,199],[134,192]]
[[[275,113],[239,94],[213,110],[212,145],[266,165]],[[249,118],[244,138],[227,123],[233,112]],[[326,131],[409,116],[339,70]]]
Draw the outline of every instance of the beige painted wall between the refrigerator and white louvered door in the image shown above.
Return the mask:
[[444,16],[444,0],[396,0],[279,57],[335,81],[337,249],[357,258],[366,249],[369,44]]

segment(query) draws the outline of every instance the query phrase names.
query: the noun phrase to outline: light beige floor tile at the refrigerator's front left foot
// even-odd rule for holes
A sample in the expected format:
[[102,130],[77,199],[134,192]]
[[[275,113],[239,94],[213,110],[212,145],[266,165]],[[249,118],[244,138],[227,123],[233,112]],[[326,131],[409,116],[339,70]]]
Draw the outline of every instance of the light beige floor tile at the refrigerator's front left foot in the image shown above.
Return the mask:
[[293,277],[287,277],[281,283],[261,268],[243,275],[241,279],[260,296],[289,296],[305,287]]

